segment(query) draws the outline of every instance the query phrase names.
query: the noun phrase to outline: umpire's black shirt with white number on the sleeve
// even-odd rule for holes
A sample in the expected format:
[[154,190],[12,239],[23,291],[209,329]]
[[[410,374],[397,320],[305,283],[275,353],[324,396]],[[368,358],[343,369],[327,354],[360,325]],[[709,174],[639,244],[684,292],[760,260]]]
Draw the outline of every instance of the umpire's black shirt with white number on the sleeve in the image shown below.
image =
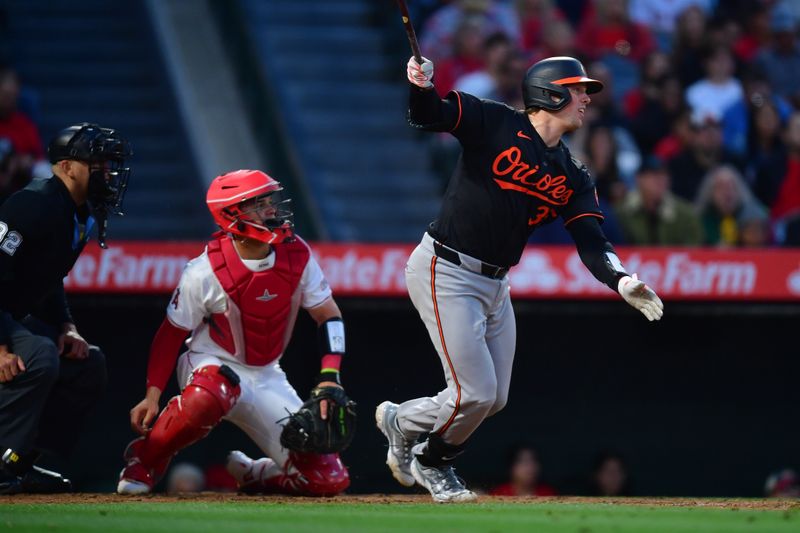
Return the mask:
[[[88,227],[87,227],[88,222]],[[86,245],[92,219],[56,176],[33,180],[0,206],[0,312],[34,314],[60,326],[72,319],[64,277]],[[0,326],[0,344],[7,344]]]

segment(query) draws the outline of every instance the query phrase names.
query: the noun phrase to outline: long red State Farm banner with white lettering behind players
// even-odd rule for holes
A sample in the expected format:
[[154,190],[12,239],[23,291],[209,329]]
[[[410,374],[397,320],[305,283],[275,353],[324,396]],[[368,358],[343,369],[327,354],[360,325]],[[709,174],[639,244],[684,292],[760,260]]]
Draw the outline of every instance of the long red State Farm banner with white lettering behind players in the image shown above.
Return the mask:
[[[124,242],[90,246],[66,287],[70,292],[167,293],[202,242]],[[404,267],[413,245],[312,244],[338,296],[406,296]],[[629,272],[673,300],[800,301],[800,250],[620,248]],[[515,298],[616,298],[572,247],[531,247],[511,270]]]

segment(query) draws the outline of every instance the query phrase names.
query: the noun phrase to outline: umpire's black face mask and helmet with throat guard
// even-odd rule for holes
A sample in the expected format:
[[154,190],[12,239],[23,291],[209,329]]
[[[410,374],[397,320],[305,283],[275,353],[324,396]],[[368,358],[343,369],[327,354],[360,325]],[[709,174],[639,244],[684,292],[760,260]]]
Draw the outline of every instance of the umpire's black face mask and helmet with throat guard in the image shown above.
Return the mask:
[[108,214],[122,214],[131,173],[125,166],[125,159],[133,155],[130,143],[111,128],[84,122],[61,130],[50,141],[47,155],[53,164],[68,159],[89,165],[89,207],[98,222],[98,241],[105,248]]

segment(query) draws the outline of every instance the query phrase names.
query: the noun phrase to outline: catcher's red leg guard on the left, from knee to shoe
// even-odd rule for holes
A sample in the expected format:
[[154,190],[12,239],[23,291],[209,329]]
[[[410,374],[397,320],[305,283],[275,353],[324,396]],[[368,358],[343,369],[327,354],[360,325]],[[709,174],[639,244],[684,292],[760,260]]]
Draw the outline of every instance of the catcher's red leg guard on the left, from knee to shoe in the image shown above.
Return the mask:
[[[239,399],[239,376],[229,367],[208,365],[195,370],[180,396],[172,398],[147,436],[125,452],[120,493],[149,492],[178,451],[202,439]],[[133,483],[125,483],[125,481]]]

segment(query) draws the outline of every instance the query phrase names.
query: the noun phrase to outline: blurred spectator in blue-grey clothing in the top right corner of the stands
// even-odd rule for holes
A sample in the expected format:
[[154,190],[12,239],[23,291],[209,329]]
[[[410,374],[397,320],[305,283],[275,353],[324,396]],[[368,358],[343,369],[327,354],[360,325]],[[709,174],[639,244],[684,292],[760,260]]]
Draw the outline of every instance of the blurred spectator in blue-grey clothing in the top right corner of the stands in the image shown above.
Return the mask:
[[770,21],[772,44],[756,59],[766,73],[772,89],[786,97],[795,108],[800,107],[800,45],[797,23],[786,4],[778,4]]

